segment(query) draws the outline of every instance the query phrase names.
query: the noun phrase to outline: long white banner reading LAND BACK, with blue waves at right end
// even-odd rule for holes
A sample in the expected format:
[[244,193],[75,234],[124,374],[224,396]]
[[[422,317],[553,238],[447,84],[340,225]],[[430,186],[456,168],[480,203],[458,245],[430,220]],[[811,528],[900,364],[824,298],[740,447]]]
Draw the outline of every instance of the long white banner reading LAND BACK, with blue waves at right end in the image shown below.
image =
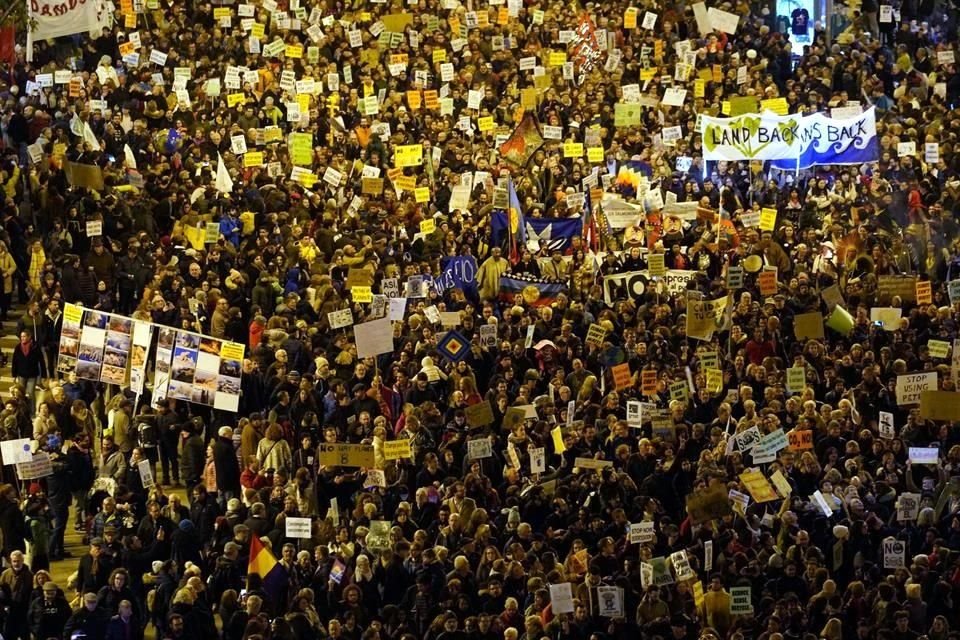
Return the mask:
[[734,118],[703,116],[704,160],[773,160],[780,169],[876,162],[880,157],[876,113],[852,118],[773,113]]

